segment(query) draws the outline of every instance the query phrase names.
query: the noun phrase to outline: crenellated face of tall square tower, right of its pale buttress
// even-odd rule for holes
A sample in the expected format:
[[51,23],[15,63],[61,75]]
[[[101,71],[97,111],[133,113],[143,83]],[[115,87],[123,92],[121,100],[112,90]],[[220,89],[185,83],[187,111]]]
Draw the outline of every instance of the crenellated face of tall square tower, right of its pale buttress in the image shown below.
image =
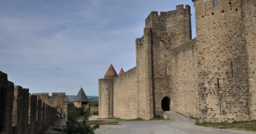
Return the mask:
[[146,27],[152,29],[151,64],[153,107],[155,115],[162,115],[161,101],[164,97],[172,98],[172,51],[181,44],[190,41],[191,13],[189,5],[177,5],[176,10],[151,12],[146,19]]

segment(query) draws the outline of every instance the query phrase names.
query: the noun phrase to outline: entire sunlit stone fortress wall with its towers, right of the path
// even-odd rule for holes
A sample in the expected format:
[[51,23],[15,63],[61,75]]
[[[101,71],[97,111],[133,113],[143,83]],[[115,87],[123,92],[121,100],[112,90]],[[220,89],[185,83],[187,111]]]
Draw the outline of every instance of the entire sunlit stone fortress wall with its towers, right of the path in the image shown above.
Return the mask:
[[149,14],[136,67],[99,79],[101,118],[152,119],[165,97],[172,111],[200,121],[256,118],[256,1],[193,1],[195,39],[189,5]]

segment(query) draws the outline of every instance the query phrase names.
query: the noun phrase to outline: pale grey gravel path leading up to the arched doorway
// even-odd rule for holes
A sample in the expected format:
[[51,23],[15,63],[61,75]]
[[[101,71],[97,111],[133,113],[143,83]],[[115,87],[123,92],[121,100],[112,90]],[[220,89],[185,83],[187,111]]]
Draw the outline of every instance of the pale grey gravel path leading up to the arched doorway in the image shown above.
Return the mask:
[[120,125],[101,125],[96,134],[256,134],[196,126],[195,120],[171,112],[174,121],[120,121]]

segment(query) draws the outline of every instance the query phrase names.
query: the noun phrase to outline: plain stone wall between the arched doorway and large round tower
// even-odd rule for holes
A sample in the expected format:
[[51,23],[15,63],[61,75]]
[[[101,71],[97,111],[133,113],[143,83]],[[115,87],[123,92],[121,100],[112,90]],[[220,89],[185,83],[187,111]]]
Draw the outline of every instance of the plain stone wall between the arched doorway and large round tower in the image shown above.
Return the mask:
[[173,49],[173,97],[171,110],[199,117],[196,39]]

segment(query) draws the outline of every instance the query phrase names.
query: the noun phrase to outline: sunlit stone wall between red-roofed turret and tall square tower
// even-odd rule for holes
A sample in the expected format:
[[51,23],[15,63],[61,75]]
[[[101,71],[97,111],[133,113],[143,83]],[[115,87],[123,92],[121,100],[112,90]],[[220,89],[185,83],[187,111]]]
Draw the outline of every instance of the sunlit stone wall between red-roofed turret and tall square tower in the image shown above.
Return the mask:
[[[136,119],[137,116],[136,67],[114,79],[114,116],[121,119]],[[129,114],[126,114],[129,113]]]

